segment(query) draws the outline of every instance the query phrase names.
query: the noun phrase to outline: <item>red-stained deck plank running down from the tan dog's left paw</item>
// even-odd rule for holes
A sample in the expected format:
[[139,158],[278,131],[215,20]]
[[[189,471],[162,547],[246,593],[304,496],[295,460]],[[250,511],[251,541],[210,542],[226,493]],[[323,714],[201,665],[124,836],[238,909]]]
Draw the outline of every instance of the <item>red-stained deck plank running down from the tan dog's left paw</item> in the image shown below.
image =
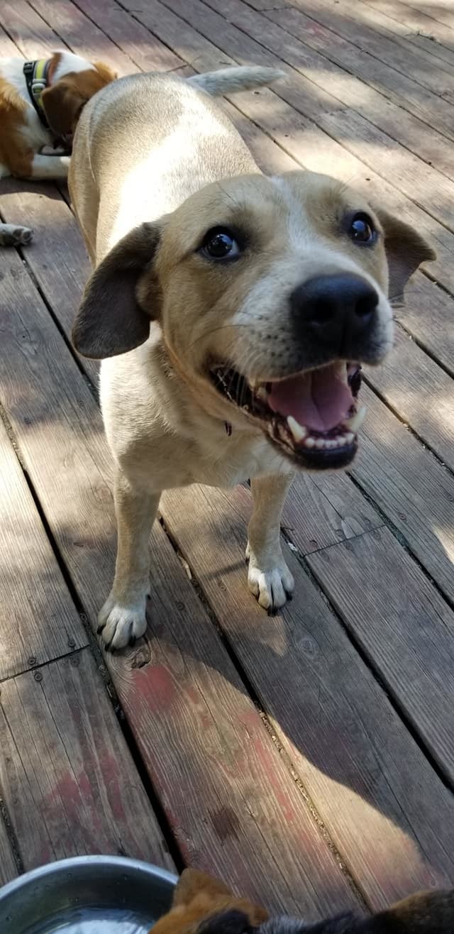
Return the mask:
[[159,525],[150,557],[146,644],[108,663],[185,860],[275,909],[314,917],[351,904],[347,880]]

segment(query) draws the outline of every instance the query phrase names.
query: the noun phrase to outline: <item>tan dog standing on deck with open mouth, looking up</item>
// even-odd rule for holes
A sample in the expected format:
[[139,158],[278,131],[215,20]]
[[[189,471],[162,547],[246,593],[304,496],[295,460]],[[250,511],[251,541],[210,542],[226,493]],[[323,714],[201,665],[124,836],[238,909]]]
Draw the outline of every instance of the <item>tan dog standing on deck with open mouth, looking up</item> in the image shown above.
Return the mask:
[[433,250],[333,178],[263,176],[209,93],[267,69],[121,78],[87,105],[69,186],[95,272],[76,320],[104,360],[118,556],[106,646],[146,630],[148,542],[163,489],[251,479],[248,587],[282,606],[279,542],[296,469],[345,467],[360,364],[392,343],[391,298]]

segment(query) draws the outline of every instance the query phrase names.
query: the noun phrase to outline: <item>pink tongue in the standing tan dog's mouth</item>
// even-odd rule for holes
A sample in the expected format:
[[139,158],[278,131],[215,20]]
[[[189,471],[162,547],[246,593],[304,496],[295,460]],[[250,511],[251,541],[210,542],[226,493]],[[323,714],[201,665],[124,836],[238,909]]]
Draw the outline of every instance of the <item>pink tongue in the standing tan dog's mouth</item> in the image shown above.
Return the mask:
[[344,421],[352,403],[350,389],[333,366],[272,383],[268,396],[275,412],[316,432],[329,432]]

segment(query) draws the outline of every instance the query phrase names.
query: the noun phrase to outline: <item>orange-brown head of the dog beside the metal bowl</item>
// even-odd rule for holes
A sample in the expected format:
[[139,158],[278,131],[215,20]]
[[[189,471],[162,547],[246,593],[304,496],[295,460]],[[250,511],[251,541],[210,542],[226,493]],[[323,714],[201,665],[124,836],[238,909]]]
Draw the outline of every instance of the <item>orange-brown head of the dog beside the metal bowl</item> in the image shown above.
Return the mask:
[[195,934],[210,918],[232,911],[251,927],[258,927],[268,917],[263,908],[248,899],[238,899],[218,879],[200,870],[187,869],[177,882],[170,912],[151,931],[152,934]]

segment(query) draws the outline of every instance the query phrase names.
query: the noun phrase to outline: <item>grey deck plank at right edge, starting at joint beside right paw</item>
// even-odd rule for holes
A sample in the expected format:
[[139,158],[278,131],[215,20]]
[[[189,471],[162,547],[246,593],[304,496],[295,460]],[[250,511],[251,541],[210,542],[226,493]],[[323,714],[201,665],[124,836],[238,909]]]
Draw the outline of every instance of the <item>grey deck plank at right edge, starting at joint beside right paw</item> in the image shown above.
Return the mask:
[[388,529],[308,558],[391,695],[454,778],[454,614]]

